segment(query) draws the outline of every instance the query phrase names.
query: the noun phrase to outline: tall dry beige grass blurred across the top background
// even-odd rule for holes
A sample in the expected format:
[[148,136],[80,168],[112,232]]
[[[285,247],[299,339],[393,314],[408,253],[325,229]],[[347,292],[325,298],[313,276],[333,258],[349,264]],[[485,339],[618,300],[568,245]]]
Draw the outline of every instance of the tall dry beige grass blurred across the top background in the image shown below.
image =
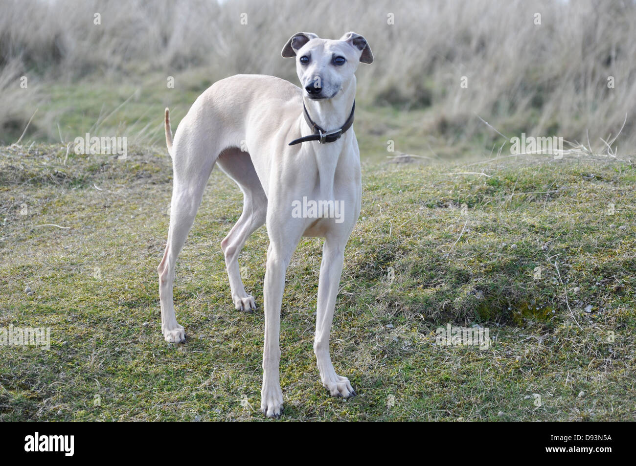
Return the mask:
[[36,106],[36,93],[27,98],[17,88],[24,72],[39,76],[43,90],[86,78],[143,82],[197,67],[211,81],[263,73],[295,82],[279,55],[291,34],[356,31],[376,57],[359,72],[361,105],[430,107],[414,118],[450,143],[492,134],[480,115],[509,136],[583,141],[589,134],[602,144],[598,138],[616,134],[627,116],[618,144],[636,152],[631,0],[2,0],[0,8],[0,131],[28,120]]

